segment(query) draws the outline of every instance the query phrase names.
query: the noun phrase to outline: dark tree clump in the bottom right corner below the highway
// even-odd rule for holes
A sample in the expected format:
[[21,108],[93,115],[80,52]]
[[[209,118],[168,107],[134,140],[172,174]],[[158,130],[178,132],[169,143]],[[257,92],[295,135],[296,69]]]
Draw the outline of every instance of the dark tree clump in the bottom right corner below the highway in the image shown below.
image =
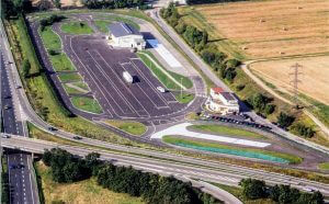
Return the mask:
[[242,179],[239,183],[242,195],[248,200],[271,199],[280,204],[324,204],[324,195],[319,192],[305,193],[290,185],[268,186],[264,181]]

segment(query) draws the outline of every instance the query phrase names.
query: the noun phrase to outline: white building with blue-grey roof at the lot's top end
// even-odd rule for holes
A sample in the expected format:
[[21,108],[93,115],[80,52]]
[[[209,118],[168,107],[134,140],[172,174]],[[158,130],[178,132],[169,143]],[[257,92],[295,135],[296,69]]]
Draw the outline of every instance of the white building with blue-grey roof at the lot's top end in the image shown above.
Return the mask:
[[109,29],[110,44],[114,47],[145,49],[146,42],[135,27],[120,22],[112,23]]

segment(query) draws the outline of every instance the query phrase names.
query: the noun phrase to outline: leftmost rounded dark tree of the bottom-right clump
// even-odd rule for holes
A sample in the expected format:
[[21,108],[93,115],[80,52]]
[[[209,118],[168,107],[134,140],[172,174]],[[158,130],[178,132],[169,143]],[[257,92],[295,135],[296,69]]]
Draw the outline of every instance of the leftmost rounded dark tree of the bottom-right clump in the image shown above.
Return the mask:
[[242,194],[250,200],[264,199],[268,196],[264,181],[256,179],[242,179],[239,183],[242,186]]

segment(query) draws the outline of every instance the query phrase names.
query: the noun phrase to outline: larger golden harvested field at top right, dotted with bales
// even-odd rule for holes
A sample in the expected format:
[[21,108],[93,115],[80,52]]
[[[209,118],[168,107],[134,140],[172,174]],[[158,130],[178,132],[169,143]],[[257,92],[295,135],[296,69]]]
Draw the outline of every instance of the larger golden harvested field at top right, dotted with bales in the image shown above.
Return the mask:
[[329,52],[328,0],[269,0],[195,7],[248,58]]

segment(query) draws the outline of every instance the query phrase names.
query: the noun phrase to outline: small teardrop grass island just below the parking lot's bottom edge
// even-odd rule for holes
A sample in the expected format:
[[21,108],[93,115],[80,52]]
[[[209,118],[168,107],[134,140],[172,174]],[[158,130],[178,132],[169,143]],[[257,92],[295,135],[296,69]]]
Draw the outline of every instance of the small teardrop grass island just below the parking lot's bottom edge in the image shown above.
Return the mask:
[[146,131],[147,127],[138,122],[135,121],[114,121],[114,120],[109,120],[106,123],[111,126],[114,126],[116,128],[120,128],[121,131],[127,132],[132,135],[140,136],[143,135]]

